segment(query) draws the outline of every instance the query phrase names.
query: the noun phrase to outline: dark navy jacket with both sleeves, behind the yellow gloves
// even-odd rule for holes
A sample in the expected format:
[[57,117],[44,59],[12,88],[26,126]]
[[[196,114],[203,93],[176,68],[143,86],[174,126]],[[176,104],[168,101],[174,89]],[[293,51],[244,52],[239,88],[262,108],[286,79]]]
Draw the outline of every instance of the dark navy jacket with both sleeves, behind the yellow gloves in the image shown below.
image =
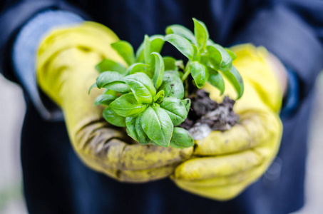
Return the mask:
[[[177,188],[169,179],[118,183],[86,168],[73,152],[63,122],[43,121],[26,95],[21,138],[24,193],[30,213],[290,213],[304,203],[307,125],[314,80],[323,67],[323,2],[302,0],[11,0],[1,1],[0,68],[17,81],[11,48],[21,26],[46,9],[73,11],[105,24],[138,47],[144,34],[163,34],[170,24],[205,22],[223,46],[263,45],[297,74],[299,104],[283,116],[282,146],[267,171],[233,200],[217,202]],[[173,54],[172,54],[173,55]]]

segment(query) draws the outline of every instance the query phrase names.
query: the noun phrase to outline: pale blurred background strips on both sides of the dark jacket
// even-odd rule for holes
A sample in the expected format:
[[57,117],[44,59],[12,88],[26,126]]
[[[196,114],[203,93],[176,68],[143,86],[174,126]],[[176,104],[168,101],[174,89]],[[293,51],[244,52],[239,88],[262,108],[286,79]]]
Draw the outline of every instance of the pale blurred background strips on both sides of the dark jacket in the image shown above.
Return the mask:
[[[323,203],[323,73],[317,79],[317,99],[309,128],[306,200],[302,210],[293,214],[322,213]],[[0,75],[0,213],[27,213],[22,195],[19,141],[24,120],[21,88]]]

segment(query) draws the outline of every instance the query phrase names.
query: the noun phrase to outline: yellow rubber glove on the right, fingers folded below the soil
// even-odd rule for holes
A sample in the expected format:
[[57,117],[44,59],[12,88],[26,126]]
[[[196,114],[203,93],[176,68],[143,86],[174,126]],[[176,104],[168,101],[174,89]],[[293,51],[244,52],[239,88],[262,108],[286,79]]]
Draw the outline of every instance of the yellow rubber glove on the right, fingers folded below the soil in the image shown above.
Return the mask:
[[[183,190],[216,200],[234,198],[260,178],[275,158],[282,136],[278,116],[282,88],[267,61],[269,53],[250,44],[232,51],[237,54],[233,64],[245,83],[245,93],[234,106],[240,123],[195,141],[195,158],[180,164],[171,176]],[[225,95],[235,98],[232,86],[226,82],[225,87]],[[205,90],[213,100],[222,100],[212,86]]]

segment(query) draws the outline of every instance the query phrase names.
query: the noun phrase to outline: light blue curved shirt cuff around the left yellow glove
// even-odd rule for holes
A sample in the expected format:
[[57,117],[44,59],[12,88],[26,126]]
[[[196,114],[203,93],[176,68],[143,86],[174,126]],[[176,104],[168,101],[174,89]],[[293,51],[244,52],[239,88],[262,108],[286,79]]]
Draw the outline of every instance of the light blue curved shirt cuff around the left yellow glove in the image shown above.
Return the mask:
[[43,11],[36,14],[19,31],[14,42],[12,62],[17,78],[31,98],[31,102],[41,116],[48,121],[62,121],[63,113],[59,108],[49,110],[44,105],[36,81],[36,54],[43,36],[57,27],[81,24],[81,16],[68,11]]

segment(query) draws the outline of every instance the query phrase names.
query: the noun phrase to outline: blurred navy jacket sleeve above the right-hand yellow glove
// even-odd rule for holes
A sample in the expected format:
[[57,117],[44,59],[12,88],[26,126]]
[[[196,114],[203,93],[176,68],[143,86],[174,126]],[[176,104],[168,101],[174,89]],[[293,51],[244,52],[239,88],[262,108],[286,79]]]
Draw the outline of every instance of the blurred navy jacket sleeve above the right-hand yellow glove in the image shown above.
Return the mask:
[[237,41],[265,46],[292,68],[302,101],[323,68],[323,1],[275,2],[255,13]]

